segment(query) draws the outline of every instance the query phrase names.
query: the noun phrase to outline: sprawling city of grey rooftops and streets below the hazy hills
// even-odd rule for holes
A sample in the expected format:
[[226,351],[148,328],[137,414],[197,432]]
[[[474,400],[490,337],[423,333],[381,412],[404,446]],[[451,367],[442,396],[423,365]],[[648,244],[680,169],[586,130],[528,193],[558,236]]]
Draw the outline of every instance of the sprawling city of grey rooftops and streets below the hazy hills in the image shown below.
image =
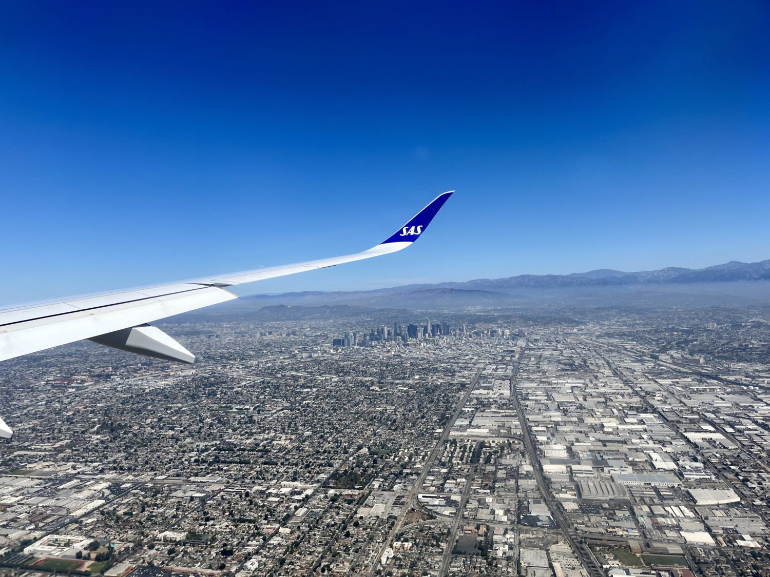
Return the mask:
[[4,575],[770,575],[749,309],[164,325],[0,365]]

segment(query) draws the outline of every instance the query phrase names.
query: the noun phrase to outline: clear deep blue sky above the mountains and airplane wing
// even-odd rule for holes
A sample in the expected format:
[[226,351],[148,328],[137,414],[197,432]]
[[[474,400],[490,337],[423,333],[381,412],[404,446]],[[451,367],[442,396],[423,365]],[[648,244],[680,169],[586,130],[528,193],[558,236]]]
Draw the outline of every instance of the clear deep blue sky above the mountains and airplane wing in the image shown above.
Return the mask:
[[417,4],[6,4],[0,302],[770,258],[767,2]]

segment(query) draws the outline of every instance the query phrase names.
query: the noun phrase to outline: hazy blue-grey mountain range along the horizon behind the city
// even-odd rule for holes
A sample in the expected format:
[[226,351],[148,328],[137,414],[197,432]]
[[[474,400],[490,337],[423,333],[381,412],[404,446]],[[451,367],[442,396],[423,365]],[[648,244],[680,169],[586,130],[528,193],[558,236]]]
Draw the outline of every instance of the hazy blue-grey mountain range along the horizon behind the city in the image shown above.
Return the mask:
[[506,307],[544,300],[595,306],[608,304],[603,303],[608,298],[615,304],[633,302],[653,305],[666,302],[693,305],[700,302],[716,305],[767,299],[770,282],[762,281],[770,281],[770,260],[751,263],[731,261],[706,268],[667,267],[640,272],[603,268],[570,275],[477,278],[466,282],[403,285],[369,291],[253,295],[246,300],[255,306],[344,303],[367,308],[399,309]]

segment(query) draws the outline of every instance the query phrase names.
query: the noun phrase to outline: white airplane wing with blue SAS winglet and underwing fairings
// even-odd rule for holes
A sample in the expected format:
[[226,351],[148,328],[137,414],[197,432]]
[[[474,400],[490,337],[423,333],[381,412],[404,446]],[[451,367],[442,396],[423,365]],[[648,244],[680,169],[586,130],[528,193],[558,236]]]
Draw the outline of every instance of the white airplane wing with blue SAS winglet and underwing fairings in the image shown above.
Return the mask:
[[[140,325],[236,299],[236,295],[225,290],[227,286],[294,275],[403,250],[423,234],[452,192],[438,195],[386,241],[353,255],[2,309],[0,361],[68,342],[92,339],[140,354],[192,362],[194,355],[169,335],[152,327],[142,329]],[[122,332],[122,329],[134,327],[141,330]],[[0,421],[0,437],[10,435],[11,430]]]

